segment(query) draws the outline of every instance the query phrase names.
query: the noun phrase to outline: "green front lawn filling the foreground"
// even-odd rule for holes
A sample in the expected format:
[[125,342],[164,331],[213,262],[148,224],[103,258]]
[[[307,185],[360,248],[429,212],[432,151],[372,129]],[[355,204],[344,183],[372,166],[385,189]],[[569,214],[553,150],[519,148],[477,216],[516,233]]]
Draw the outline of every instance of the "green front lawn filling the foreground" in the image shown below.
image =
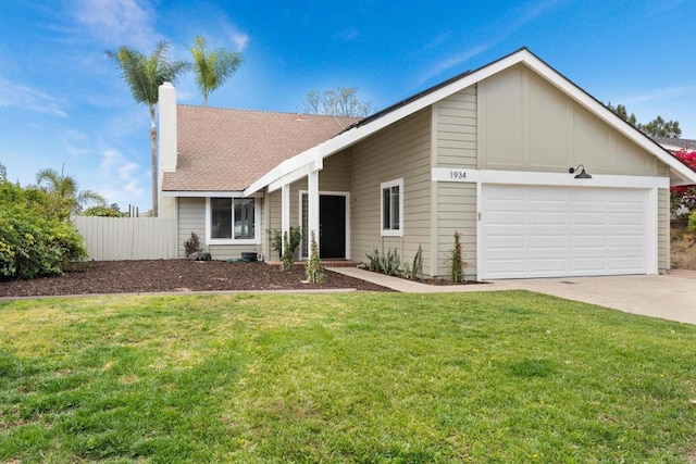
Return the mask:
[[696,327],[513,291],[0,302],[0,462],[693,462]]

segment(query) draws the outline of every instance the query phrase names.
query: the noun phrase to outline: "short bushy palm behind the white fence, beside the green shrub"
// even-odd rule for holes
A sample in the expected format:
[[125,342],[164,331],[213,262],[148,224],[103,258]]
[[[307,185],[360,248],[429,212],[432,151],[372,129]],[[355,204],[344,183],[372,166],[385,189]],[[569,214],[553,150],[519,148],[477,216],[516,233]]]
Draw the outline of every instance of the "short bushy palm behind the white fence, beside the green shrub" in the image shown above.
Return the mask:
[[79,190],[77,180],[61,171],[45,168],[36,174],[36,184],[52,199],[59,218],[79,213],[87,203],[105,204],[107,200],[94,190]]

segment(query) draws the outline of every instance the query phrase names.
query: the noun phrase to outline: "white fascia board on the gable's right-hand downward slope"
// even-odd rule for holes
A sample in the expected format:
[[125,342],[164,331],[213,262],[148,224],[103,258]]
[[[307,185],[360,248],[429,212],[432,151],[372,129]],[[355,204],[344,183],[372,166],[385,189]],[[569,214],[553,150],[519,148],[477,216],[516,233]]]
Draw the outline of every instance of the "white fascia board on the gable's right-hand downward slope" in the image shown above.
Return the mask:
[[657,156],[658,160],[670,166],[670,168],[683,178],[688,184],[696,184],[696,173],[685,166],[681,161],[672,156],[658,143],[643,135],[638,129],[634,128],[622,118],[617,116],[611,110],[607,109],[604,104],[599,103],[594,98],[589,97],[584,90],[575,86],[573,83],[561,76],[558,72],[552,70],[549,65],[536,58],[534,54],[526,50],[522,50],[525,57],[522,60],[524,64],[542,75],[546,80],[556,86],[563,93],[568,95],[580,104],[585,106],[592,113],[601,118],[605,123],[633,140],[641,148]]

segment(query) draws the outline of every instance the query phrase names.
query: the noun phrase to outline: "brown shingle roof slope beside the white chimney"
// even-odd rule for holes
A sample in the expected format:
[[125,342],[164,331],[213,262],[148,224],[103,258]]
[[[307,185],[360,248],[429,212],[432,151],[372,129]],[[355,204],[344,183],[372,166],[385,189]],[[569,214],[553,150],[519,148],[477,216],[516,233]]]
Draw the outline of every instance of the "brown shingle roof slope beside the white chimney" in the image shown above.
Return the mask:
[[181,104],[176,118],[177,165],[164,173],[164,191],[244,190],[359,120]]

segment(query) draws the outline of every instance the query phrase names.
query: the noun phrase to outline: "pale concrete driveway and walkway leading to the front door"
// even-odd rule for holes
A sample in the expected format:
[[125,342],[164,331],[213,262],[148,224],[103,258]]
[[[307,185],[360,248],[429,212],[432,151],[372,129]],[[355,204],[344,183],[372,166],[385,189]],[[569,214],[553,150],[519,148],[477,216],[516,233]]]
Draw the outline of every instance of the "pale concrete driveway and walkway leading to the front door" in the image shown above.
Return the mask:
[[406,293],[530,290],[627,313],[696,324],[695,271],[680,271],[668,276],[515,279],[462,286],[431,286],[356,267],[332,267],[331,271]]

